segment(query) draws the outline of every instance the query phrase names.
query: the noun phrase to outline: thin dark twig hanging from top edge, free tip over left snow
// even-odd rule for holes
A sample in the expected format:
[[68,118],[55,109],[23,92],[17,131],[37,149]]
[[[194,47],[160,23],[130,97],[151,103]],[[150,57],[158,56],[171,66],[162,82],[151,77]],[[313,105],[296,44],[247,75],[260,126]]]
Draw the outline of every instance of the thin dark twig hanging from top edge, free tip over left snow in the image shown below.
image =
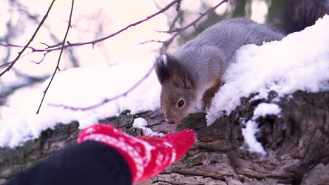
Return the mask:
[[47,87],[46,87],[46,90],[44,90],[44,96],[42,97],[42,100],[41,100],[41,102],[40,102],[40,105],[39,105],[39,108],[38,108],[38,110],[37,110],[37,114],[39,114],[39,111],[40,111],[40,109],[41,109],[41,105],[42,105],[42,102],[44,102],[44,97],[46,96],[46,93],[48,92],[48,90],[49,90],[49,87],[50,87],[50,85],[51,85],[51,82],[53,81],[53,77],[55,76],[55,74],[56,74],[56,72],[58,71],[58,70],[60,70],[59,69],[59,64],[60,64],[60,57],[62,57],[62,53],[63,53],[63,50],[64,50],[64,46],[65,46],[65,41],[66,41],[66,38],[67,38],[67,34],[68,34],[68,32],[69,32],[69,30],[70,30],[70,27],[71,27],[71,20],[72,20],[72,13],[73,13],[73,6],[75,5],[75,0],[72,0],[72,6],[71,6],[71,12],[70,12],[70,18],[69,18],[69,21],[68,21],[68,24],[67,24],[67,29],[66,29],[66,33],[65,33],[65,36],[64,36],[64,39],[63,39],[63,44],[62,44],[62,49],[60,50],[60,55],[59,55],[59,57],[58,57],[58,62],[57,62],[57,65],[56,65],[56,68],[55,68],[55,70],[53,71],[53,76],[51,76],[51,80],[49,81],[49,83],[48,83],[48,85],[47,85]]

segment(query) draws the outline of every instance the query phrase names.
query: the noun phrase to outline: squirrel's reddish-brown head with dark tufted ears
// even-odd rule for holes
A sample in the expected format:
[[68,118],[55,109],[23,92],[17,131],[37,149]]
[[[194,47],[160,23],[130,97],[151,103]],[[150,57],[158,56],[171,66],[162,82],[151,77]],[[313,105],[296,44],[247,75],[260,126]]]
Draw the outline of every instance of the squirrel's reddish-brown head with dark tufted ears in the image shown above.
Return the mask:
[[162,86],[163,114],[169,124],[180,123],[197,105],[195,83],[188,70],[168,54],[157,57],[155,71]]

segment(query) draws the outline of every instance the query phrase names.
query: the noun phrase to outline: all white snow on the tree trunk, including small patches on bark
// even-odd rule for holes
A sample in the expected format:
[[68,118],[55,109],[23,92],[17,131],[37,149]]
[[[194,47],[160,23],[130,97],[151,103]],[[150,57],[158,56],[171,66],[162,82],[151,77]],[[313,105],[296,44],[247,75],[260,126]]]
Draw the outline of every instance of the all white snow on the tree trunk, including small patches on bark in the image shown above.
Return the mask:
[[[251,93],[259,92],[254,97],[257,99],[266,97],[271,90],[278,93],[278,98],[296,90],[329,90],[328,30],[329,16],[326,15],[313,27],[290,34],[283,41],[241,47],[236,53],[236,63],[226,71],[225,84],[215,95],[207,112],[208,125],[222,116],[224,111],[230,114],[240,104],[240,97],[248,97]],[[7,108],[14,116],[4,116],[0,121],[0,146],[17,146],[26,139],[38,137],[41,130],[53,128],[56,123],[76,120],[80,128],[86,128],[101,118],[115,116],[125,109],[130,109],[132,114],[158,109],[160,85],[154,71],[127,96],[96,109],[73,111],[49,105],[84,108],[98,104],[131,88],[151,66],[152,59],[147,59],[106,68],[78,68],[60,72],[46,95],[40,114],[35,115],[35,112],[47,82],[31,95],[26,95],[26,102]],[[274,104],[263,104],[254,112],[259,116],[266,114],[280,114],[280,108]],[[264,149],[262,151],[260,148],[262,146],[257,146],[254,139],[257,132],[254,119],[246,123],[243,135],[250,151],[264,153]],[[142,120],[135,123],[137,126],[145,125]]]

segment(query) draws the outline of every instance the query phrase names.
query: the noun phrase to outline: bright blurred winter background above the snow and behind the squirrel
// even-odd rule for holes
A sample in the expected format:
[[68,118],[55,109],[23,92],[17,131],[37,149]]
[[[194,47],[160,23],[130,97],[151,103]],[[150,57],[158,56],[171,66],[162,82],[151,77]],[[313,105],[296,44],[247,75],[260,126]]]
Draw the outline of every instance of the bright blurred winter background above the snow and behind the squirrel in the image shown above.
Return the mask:
[[[67,41],[81,43],[100,39],[131,23],[147,18],[171,2],[163,0],[75,1],[72,28]],[[219,2],[183,0],[179,6],[175,4],[155,18],[130,27],[117,36],[96,43],[94,46],[89,44],[67,48],[60,60],[60,70],[72,67],[108,67],[119,62],[153,62],[153,58],[162,47],[162,43],[158,41],[166,41],[175,34],[175,32],[169,34],[157,31],[184,27],[198,18],[200,13],[204,13]],[[287,2],[288,0],[229,0],[226,4],[219,6],[214,13],[202,18],[194,27],[189,27],[177,36],[170,43],[167,51],[172,52],[186,41],[193,39],[202,30],[228,18],[250,18],[279,29],[280,13]],[[1,0],[0,43],[25,46],[50,4],[51,0]],[[65,35],[70,8],[71,1],[57,0],[30,46],[44,49],[47,45],[53,46],[60,43]],[[150,40],[153,42],[143,43]],[[0,46],[0,71],[4,71],[8,62],[13,61],[20,50],[22,50],[20,47]],[[58,50],[50,53],[34,53],[27,48],[13,69],[0,77],[0,118],[4,116],[6,109],[13,104],[20,104],[27,98],[28,90],[39,86],[44,79],[53,74],[58,55]],[[106,81],[100,83],[106,83]],[[40,99],[41,95],[40,92]]]

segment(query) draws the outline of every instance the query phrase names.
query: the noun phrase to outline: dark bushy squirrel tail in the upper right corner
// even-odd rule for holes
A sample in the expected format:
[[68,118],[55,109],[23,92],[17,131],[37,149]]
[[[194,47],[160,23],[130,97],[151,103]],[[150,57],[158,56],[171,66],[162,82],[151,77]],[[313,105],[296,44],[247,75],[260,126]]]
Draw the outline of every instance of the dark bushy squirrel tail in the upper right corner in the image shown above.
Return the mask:
[[329,14],[327,0],[290,0],[283,11],[282,29],[285,34],[302,31]]

